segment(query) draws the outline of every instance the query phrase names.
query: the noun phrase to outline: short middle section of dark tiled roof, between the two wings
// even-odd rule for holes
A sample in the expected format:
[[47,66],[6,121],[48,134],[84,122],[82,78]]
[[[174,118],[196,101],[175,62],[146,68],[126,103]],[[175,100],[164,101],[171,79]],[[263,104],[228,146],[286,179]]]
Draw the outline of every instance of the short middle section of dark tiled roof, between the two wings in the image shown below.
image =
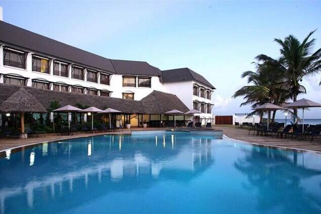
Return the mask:
[[[111,59],[117,74],[161,76],[159,69],[143,61]],[[157,70],[158,69],[158,70]]]

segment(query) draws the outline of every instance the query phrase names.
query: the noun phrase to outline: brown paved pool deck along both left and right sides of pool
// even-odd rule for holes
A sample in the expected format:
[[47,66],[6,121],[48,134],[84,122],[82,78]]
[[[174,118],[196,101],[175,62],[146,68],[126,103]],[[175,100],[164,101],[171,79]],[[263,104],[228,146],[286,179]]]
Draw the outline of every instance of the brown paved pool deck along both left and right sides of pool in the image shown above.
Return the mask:
[[[304,141],[304,140],[299,141],[295,139],[291,140],[291,139],[280,139],[280,138],[272,138],[272,137],[262,137],[262,136],[257,136],[253,134],[248,135],[247,130],[238,129],[233,126],[216,125],[216,126],[213,126],[213,128],[216,130],[223,130],[223,134],[226,135],[227,137],[230,137],[236,140],[245,141],[245,142],[251,142],[253,144],[321,152],[320,140],[310,142],[310,141]],[[151,131],[151,130],[164,130],[164,128],[131,128],[131,129],[123,129],[117,132],[78,133],[77,135],[70,135],[70,136],[46,134],[46,136],[41,135],[38,138],[31,137],[27,139],[0,139],[0,151],[21,147],[21,146],[38,144],[40,142],[50,142],[55,140],[96,136],[96,135],[102,135],[102,134],[130,134],[131,131]]]

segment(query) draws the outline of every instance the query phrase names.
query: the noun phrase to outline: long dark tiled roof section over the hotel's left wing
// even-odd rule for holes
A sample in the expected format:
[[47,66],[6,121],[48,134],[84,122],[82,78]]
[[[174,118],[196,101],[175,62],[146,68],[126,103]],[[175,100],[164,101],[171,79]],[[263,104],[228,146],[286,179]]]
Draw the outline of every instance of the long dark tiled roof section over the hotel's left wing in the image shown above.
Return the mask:
[[115,73],[110,59],[0,21],[0,42]]

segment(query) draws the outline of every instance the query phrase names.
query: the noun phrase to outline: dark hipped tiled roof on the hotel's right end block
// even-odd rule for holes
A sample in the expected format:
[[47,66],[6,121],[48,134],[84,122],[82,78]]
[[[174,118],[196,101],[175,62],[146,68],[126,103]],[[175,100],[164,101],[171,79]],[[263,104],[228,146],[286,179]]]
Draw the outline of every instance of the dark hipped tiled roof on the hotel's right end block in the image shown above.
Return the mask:
[[162,71],[163,82],[182,82],[182,81],[197,81],[200,82],[211,89],[216,89],[212,84],[210,84],[202,75],[197,74],[188,67],[177,68]]

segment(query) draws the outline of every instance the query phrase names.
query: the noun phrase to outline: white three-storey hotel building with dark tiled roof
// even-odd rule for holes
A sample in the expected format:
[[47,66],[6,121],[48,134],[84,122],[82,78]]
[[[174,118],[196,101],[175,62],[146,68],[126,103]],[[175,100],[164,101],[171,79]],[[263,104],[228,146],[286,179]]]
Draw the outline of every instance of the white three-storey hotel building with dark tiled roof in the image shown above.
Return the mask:
[[160,70],[144,61],[104,58],[3,21],[0,83],[133,100],[157,90],[202,112],[195,119],[203,123],[212,119],[215,89],[189,68]]

